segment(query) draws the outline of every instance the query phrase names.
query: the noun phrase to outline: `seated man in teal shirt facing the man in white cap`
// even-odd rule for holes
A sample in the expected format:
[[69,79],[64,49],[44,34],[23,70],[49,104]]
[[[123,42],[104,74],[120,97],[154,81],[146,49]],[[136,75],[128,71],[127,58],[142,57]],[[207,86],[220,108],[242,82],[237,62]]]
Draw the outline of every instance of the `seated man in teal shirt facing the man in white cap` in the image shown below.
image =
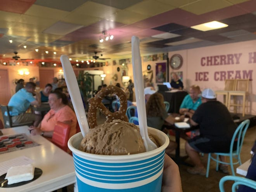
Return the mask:
[[189,89],[189,95],[186,95],[180,105],[180,114],[189,116],[194,114],[198,106],[202,104],[201,90],[198,85],[192,85]]

